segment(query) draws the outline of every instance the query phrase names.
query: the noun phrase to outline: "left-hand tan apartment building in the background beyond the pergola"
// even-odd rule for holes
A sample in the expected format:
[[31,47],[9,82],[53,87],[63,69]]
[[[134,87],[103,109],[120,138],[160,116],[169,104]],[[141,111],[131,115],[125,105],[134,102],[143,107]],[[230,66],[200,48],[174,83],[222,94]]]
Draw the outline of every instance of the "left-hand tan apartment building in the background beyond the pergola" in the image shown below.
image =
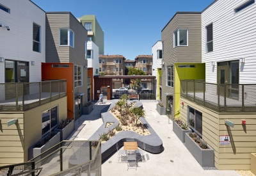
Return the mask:
[[[123,55],[99,55],[99,72],[104,72],[108,76],[124,75],[125,57]],[[113,89],[122,88],[124,79],[113,79]]]

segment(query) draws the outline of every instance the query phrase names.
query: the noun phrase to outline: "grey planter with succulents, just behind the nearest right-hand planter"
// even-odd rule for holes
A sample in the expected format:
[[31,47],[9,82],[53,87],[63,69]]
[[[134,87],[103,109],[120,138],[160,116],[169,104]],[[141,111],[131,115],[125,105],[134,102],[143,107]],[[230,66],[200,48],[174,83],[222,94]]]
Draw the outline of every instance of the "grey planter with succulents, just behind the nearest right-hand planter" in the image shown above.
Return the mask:
[[185,142],[185,133],[191,132],[191,129],[189,129],[188,125],[182,122],[180,118],[173,119],[172,130],[180,139],[180,141],[182,141],[182,143]]

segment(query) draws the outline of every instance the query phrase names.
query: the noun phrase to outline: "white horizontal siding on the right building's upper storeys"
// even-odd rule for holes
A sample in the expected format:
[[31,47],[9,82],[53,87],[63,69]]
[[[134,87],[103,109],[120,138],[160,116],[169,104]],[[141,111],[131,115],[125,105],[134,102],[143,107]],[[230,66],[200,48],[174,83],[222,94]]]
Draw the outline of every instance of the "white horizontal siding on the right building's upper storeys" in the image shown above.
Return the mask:
[[[234,9],[247,0],[219,0],[202,13],[202,62],[205,79],[217,83],[217,66],[211,61],[231,61],[245,58],[239,67],[239,83],[256,83],[256,4],[240,12]],[[205,26],[213,24],[213,52],[205,52]]]

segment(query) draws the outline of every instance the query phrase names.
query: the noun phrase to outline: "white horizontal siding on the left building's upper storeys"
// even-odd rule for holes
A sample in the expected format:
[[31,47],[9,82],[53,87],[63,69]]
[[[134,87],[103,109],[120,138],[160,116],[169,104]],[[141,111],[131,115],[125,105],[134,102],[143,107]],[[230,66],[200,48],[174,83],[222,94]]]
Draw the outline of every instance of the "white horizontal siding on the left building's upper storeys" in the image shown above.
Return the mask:
[[[45,62],[45,12],[29,0],[0,0],[11,13],[0,10],[0,57],[6,60],[29,61],[29,81],[41,81],[41,63]],[[33,22],[41,26],[41,52],[33,51]],[[30,61],[35,61],[31,65]],[[0,83],[4,83],[4,63],[0,63]]]

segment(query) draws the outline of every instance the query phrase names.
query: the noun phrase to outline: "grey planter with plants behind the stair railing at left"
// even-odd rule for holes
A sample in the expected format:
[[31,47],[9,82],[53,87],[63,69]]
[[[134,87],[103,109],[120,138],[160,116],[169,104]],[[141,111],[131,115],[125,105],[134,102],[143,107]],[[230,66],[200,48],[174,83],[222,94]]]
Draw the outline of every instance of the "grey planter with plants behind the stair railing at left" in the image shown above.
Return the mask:
[[[39,156],[40,154],[42,154],[42,152],[49,150],[49,148],[53,147],[58,143],[60,143],[60,132],[56,132],[56,131],[49,132],[41,140],[39,140],[34,145],[28,148],[29,160],[33,159],[36,156]],[[52,148],[52,151],[49,151],[49,154],[54,150],[56,149]],[[37,158],[36,161],[38,161],[39,159],[40,158]]]

